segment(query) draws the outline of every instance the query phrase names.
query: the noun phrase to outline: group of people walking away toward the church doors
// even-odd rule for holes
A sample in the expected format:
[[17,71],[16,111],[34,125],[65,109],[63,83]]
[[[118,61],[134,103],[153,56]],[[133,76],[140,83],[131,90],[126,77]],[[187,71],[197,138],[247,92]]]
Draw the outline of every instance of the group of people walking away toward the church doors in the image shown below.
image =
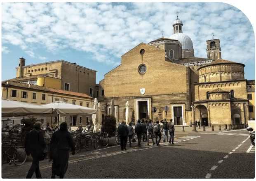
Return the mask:
[[[170,122],[166,119],[163,119],[160,121],[163,124],[163,135],[164,135],[164,140],[167,139],[168,142],[168,132],[170,134],[170,144],[174,144],[174,123],[172,122],[172,119],[170,119]],[[160,146],[160,141],[162,139],[161,136],[161,127],[159,124],[159,121],[156,121],[156,124],[152,126],[152,120],[149,119],[148,121],[144,120],[138,120],[137,124],[135,125],[135,134],[137,135],[138,138],[138,147],[141,147],[141,139],[145,143],[147,142],[149,146],[149,139],[151,137],[153,145],[157,144],[157,146]],[[153,134],[155,134],[155,142],[153,139]],[[124,121],[118,126],[117,128],[117,135],[120,137],[120,146],[121,150],[127,150],[126,145],[129,137],[129,147],[132,147],[132,138],[134,135],[134,130],[132,127],[132,122],[129,123],[129,126],[125,124]]]

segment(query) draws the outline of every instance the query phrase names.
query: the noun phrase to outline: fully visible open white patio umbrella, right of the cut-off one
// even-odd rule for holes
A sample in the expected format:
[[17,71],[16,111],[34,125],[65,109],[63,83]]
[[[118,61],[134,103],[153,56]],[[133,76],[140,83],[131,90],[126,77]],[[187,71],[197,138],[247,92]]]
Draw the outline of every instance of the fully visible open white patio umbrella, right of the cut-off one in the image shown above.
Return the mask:
[[49,103],[46,105],[41,105],[43,107],[52,108],[52,114],[45,116],[58,116],[58,126],[59,126],[59,117],[71,116],[71,115],[85,115],[85,114],[94,114],[97,112],[96,109],[83,107],[80,105],[69,104],[63,101],[55,101],[54,103]]

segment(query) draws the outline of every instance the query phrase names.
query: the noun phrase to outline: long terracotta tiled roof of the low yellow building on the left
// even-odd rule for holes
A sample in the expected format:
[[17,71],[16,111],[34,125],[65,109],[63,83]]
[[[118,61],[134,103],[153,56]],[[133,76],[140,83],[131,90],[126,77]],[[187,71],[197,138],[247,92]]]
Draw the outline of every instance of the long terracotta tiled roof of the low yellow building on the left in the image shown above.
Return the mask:
[[[3,85],[7,85],[7,82],[2,82],[2,87]],[[23,88],[28,88],[28,89],[35,89],[35,90],[41,90],[41,91],[46,91],[46,92],[55,92],[55,93],[60,93],[60,94],[68,94],[71,96],[80,96],[80,97],[87,97],[87,98],[92,98],[91,96],[88,96],[87,94],[79,93],[79,92],[71,92],[71,91],[66,91],[66,90],[61,90],[61,89],[54,89],[50,87],[42,87],[39,85],[28,85],[28,84],[23,84],[19,82],[11,82],[9,81],[9,85],[15,86],[15,87],[23,87]],[[30,87],[28,87],[30,86]]]

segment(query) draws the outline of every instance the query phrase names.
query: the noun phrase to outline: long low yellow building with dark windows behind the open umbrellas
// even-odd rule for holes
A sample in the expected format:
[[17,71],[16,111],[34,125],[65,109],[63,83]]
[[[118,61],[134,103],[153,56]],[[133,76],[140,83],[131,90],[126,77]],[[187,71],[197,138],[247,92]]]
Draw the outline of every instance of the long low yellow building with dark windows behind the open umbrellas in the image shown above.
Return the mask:
[[[71,92],[51,87],[42,87],[39,85],[19,83],[12,81],[2,81],[1,97],[14,101],[31,103],[36,105],[45,105],[54,101],[64,101],[66,103],[81,105],[88,108],[93,108],[94,98],[87,94]],[[62,117],[63,120],[73,126],[87,126],[92,124],[92,115],[73,115]],[[43,122],[46,127],[47,123],[56,124],[57,117],[37,117]]]

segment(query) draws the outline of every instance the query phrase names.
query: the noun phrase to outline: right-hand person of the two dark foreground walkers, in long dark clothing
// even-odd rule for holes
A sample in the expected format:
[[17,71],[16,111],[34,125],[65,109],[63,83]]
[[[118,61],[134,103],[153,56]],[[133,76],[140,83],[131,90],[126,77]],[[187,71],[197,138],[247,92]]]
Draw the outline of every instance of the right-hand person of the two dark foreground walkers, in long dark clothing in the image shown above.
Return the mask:
[[75,155],[75,143],[68,132],[68,125],[66,122],[61,123],[60,129],[52,134],[50,142],[50,150],[54,147],[58,147],[58,157],[52,160],[52,177],[55,179],[55,175],[63,179],[68,169],[69,151],[72,151],[72,155]]

